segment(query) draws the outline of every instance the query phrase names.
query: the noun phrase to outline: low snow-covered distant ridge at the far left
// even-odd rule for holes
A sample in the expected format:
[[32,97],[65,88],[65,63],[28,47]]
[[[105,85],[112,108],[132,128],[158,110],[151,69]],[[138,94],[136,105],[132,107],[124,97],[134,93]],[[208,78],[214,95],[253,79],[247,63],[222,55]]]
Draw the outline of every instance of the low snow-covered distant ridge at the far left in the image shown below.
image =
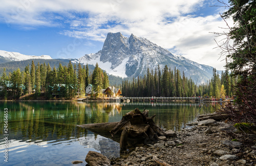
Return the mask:
[[25,61],[29,59],[46,59],[51,60],[52,58],[50,56],[27,56],[24,54],[21,54],[19,52],[8,52],[4,50],[0,50],[0,57],[9,60],[9,61]]

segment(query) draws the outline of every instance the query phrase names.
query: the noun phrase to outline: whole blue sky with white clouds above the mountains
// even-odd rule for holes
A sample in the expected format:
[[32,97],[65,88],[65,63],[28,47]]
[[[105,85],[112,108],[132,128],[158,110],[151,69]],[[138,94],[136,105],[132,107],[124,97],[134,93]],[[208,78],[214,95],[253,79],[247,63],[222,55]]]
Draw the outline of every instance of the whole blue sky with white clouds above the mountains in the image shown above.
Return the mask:
[[[224,1],[227,3],[227,0]],[[217,0],[2,0],[0,50],[74,59],[102,49],[109,32],[134,34],[224,70]],[[229,21],[229,20],[228,20]],[[232,23],[232,22],[230,22]]]

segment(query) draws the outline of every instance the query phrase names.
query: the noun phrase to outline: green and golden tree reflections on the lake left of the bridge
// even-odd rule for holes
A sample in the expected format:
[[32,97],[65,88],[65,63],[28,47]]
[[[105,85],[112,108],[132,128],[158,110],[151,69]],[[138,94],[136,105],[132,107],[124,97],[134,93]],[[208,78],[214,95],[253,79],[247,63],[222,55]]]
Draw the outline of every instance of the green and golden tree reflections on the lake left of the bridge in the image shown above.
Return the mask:
[[[109,121],[117,112],[110,103],[78,102],[3,102],[9,110],[10,137],[16,140],[58,140],[87,134],[76,125]],[[0,112],[3,117],[4,112]],[[1,118],[1,132],[4,123]]]

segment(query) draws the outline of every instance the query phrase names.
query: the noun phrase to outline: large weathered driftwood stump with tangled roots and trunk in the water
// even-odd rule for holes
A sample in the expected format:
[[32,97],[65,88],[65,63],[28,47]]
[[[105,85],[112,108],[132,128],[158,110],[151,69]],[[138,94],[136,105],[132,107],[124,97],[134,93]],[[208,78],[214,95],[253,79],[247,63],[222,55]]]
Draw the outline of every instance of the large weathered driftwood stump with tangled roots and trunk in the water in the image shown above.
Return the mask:
[[[158,136],[166,135],[166,133],[159,128],[154,122],[154,116],[148,118],[148,110],[141,113],[138,108],[125,114],[119,122],[109,123],[96,123],[96,124],[84,124],[78,125],[89,129],[93,132],[109,131],[112,139],[120,135],[120,149],[126,150],[127,141],[135,138],[136,141],[141,140],[145,144],[157,142]],[[118,134],[119,133],[119,134]],[[105,136],[105,135],[104,135]]]

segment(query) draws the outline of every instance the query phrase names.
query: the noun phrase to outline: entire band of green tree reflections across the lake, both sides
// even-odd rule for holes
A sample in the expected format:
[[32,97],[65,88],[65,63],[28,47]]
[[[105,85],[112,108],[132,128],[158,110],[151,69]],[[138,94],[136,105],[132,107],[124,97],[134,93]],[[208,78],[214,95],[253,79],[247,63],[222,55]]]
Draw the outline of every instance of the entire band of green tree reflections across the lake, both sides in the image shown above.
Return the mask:
[[[87,135],[76,125],[119,121],[121,117],[138,107],[156,114],[155,123],[166,129],[181,129],[200,113],[213,112],[210,103],[112,103],[112,102],[1,102],[8,108],[9,136],[15,140],[58,140]],[[121,111],[122,110],[122,111]],[[0,111],[0,117],[4,112]],[[0,119],[3,135],[4,119]]]

